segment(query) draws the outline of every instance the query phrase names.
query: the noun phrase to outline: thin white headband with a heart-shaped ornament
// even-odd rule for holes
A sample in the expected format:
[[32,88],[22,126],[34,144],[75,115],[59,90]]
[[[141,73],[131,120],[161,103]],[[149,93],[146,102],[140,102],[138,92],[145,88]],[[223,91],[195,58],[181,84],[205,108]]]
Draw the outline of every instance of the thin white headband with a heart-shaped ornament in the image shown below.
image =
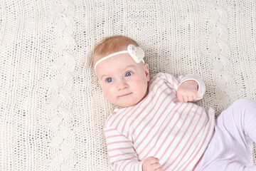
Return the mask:
[[116,52],[116,53],[112,53],[112,54],[110,54],[108,56],[105,56],[104,58],[101,58],[99,61],[97,61],[97,63],[95,64],[95,71],[96,71],[96,66],[100,62],[104,61],[107,58],[110,58],[112,56],[116,56],[116,55],[121,54],[121,53],[129,53],[129,55],[132,56],[132,58],[134,59],[134,61],[136,63],[140,63],[141,61],[143,63],[145,63],[144,60],[143,60],[143,58],[145,56],[145,53],[144,53],[143,49],[138,47],[138,46],[135,46],[133,44],[129,44],[127,46],[127,51],[119,51],[119,52]]

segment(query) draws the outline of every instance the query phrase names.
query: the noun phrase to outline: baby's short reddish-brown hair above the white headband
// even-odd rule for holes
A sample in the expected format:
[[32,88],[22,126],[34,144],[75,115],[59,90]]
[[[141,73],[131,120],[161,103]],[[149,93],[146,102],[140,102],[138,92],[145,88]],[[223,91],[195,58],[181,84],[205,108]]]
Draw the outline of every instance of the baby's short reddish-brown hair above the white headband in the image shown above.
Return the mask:
[[139,46],[136,41],[126,36],[111,36],[105,38],[102,42],[95,46],[93,54],[93,66],[95,66],[95,63],[101,58],[108,56],[111,53],[127,50],[127,46],[129,44]]

